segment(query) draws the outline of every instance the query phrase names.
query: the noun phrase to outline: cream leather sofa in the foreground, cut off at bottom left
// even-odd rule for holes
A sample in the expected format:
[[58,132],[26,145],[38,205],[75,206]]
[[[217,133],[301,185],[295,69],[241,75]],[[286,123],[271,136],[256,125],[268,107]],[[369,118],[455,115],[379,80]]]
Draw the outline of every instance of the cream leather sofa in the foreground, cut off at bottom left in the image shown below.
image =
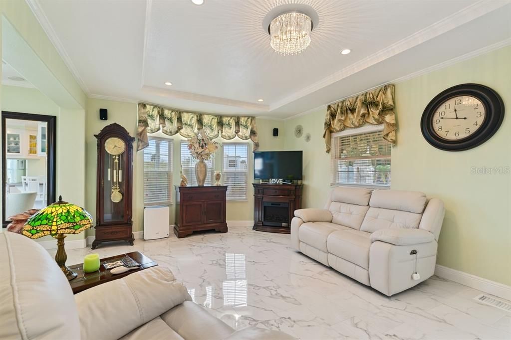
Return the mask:
[[193,303],[170,270],[156,266],[73,295],[34,240],[0,233],[0,339],[292,339],[248,327],[234,331]]

